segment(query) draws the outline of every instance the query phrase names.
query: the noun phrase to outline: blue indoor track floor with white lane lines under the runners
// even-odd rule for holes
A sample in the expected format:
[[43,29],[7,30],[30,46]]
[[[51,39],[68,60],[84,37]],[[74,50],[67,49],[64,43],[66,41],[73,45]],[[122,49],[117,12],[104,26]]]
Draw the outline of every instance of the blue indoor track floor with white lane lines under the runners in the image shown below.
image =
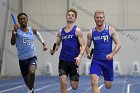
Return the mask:
[[[100,79],[101,93],[138,93],[140,91],[140,77],[115,77],[111,89],[106,89]],[[68,93],[92,93],[89,76],[81,76],[79,88],[73,91],[68,83]],[[22,77],[0,80],[0,93],[27,93]],[[36,76],[35,93],[60,93],[59,77]]]

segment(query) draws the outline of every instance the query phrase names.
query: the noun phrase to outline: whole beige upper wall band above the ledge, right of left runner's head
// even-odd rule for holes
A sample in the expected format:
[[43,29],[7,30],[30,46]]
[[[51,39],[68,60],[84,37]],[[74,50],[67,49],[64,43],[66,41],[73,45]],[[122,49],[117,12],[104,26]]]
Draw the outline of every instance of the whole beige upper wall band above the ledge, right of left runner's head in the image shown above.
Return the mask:
[[68,8],[77,10],[76,24],[83,29],[95,25],[91,18],[97,9],[104,10],[106,22],[117,28],[140,28],[140,12],[136,11],[139,3],[140,0],[23,0],[22,10],[32,18],[29,24],[37,29],[60,29]]

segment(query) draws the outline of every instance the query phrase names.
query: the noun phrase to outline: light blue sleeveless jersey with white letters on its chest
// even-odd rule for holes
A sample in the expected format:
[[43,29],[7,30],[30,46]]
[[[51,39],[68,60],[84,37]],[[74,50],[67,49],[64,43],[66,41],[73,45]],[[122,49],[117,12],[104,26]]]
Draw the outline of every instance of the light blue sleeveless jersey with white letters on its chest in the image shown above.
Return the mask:
[[36,55],[34,46],[34,33],[28,27],[28,32],[17,29],[16,48],[20,60],[28,59]]

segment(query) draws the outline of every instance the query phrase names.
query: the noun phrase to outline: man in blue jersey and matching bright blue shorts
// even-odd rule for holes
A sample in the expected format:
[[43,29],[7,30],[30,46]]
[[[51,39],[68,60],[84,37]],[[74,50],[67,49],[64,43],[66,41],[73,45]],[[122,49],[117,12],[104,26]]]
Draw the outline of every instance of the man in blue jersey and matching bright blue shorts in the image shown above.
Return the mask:
[[[114,79],[113,56],[119,51],[121,44],[116,30],[104,23],[104,11],[97,10],[94,14],[94,20],[96,27],[87,34],[86,53],[89,59],[92,58],[90,67],[92,91],[93,93],[100,93],[98,82],[101,72],[104,77],[105,87],[110,89],[112,86]],[[94,50],[91,55],[90,46],[92,41]],[[113,50],[112,41],[115,43]]]

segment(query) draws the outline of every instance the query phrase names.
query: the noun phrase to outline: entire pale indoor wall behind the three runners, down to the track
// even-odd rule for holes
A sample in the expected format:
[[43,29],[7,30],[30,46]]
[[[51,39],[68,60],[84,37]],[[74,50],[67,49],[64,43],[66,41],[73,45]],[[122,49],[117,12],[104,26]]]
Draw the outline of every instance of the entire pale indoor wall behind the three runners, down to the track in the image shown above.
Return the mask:
[[[78,11],[76,24],[83,30],[85,40],[87,31],[95,26],[94,12],[97,9],[105,11],[106,23],[117,29],[122,42],[122,48],[115,55],[114,60],[120,62],[122,74],[128,75],[132,62],[140,61],[140,12],[136,11],[139,3],[139,0],[0,0],[1,76],[21,75],[16,48],[10,45],[13,29],[10,14],[17,16],[21,11],[27,13],[29,26],[41,32],[50,49],[55,42],[57,31],[65,25],[68,8],[75,8]],[[35,45],[39,61],[37,74],[46,74],[46,64],[52,63],[53,75],[58,75],[59,51],[51,56],[49,50],[47,52],[42,50],[38,40],[35,41]],[[80,65],[80,74],[85,73],[85,63],[89,61],[85,54]]]

